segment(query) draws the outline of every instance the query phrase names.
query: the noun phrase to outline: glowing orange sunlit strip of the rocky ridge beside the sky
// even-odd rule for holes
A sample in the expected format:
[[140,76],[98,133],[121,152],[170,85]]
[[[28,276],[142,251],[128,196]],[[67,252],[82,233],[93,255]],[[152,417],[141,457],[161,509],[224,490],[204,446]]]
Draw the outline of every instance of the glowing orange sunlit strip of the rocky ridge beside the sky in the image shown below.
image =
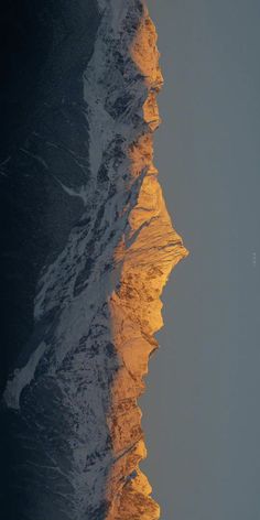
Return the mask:
[[[140,185],[128,229],[115,251],[120,275],[118,289],[109,299],[120,367],[111,389],[108,420],[115,457],[107,489],[111,503],[108,519],[156,520],[160,507],[139,469],[147,449],[138,398],[144,391],[149,357],[158,348],[153,335],[163,326],[160,296],[172,269],[188,252],[172,226],[153,165],[153,131],[160,124],[156,94],[163,78],[156,31],[147,10],[131,56],[144,76],[148,95],[143,105],[144,131],[128,152],[132,178],[139,180]],[[126,475],[130,475],[127,480]]]

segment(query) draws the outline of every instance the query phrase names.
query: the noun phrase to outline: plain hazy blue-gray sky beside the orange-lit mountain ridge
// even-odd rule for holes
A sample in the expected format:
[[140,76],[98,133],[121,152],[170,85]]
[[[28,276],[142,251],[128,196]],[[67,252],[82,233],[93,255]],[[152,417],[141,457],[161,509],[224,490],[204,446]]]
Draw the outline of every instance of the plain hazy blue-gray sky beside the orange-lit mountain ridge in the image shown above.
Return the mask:
[[142,467],[163,520],[259,520],[260,2],[148,3],[165,79],[155,163],[191,256],[164,292]]

